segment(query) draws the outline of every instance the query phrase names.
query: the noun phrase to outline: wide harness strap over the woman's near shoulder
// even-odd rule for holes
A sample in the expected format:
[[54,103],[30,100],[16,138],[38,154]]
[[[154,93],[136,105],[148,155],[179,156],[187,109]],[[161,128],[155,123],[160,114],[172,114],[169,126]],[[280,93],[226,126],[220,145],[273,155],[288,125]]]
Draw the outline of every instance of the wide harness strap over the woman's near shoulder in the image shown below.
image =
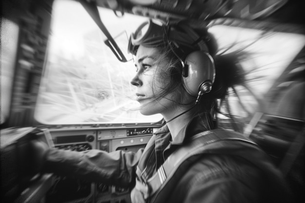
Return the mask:
[[174,175],[177,177],[176,172],[180,174],[178,177],[185,173],[184,170],[179,168],[183,162],[190,157],[202,154],[209,149],[209,145],[225,140],[239,140],[256,145],[242,134],[229,130],[208,130],[194,135],[189,143],[174,151],[157,172],[144,183],[148,187],[150,196],[153,196],[152,202],[155,202],[156,199],[164,200],[163,197],[160,197],[163,196],[161,191],[165,186],[172,185],[169,182],[171,182]]

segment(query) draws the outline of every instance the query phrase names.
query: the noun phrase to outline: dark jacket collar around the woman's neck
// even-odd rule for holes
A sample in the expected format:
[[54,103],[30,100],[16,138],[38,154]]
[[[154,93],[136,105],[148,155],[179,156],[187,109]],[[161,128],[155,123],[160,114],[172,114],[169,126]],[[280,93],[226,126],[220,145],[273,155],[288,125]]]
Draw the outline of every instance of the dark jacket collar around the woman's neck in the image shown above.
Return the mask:
[[[178,135],[174,138],[174,140],[172,140],[172,145],[182,145],[186,138],[210,129],[213,129],[213,122],[210,113],[198,113],[192,118],[188,125],[179,131]],[[158,129],[155,134],[158,136],[158,134],[163,134],[165,132],[169,132],[167,125],[164,125]]]

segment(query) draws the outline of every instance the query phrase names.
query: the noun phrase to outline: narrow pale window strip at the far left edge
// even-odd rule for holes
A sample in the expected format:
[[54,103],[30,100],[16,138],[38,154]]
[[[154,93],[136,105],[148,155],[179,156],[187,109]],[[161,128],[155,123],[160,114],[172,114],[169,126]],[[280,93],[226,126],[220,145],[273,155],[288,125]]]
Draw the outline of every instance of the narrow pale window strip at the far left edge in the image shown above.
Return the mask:
[[14,67],[17,54],[19,27],[16,23],[1,19],[1,120],[4,123],[9,116],[14,77]]

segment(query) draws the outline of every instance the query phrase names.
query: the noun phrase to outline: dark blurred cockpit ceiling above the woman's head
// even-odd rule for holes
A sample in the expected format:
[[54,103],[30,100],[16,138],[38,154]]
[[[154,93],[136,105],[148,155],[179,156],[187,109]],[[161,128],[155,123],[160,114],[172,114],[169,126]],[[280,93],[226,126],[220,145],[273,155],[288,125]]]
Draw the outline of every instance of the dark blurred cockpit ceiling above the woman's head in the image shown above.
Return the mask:
[[92,0],[118,15],[132,13],[163,20],[215,18],[304,22],[304,1],[298,0]]

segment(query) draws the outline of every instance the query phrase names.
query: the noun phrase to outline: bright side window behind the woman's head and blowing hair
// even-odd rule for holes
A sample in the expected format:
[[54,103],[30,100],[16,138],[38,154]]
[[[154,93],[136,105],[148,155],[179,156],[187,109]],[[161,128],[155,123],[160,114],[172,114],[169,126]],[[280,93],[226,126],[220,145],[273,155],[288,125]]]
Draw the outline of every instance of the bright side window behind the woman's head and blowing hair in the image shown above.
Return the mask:
[[[225,25],[212,26],[209,31],[216,37],[219,53],[236,50],[247,53],[240,61],[245,85],[235,86],[235,91],[229,89],[221,111],[248,123],[256,111],[262,110],[259,108],[264,107],[266,94],[304,47],[305,36]],[[225,115],[219,117],[228,119]]]

